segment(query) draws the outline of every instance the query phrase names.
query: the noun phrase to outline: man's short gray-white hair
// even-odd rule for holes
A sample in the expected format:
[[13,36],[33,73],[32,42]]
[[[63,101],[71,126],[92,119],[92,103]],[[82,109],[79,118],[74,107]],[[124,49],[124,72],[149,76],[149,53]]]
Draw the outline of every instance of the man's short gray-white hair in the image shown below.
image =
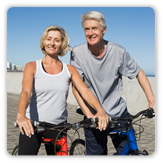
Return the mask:
[[87,20],[87,19],[94,19],[94,20],[99,21],[103,30],[106,27],[106,22],[105,22],[104,15],[101,12],[98,12],[98,11],[91,11],[91,12],[88,12],[87,14],[83,14],[81,16],[81,19],[82,19],[83,28],[84,28],[85,20]]

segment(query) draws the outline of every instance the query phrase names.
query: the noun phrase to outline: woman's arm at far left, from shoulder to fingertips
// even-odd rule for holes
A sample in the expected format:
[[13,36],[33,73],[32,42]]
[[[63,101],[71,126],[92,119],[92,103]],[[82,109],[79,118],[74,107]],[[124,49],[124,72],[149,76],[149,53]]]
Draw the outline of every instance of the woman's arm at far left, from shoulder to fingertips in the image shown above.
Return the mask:
[[20,94],[18,113],[17,113],[17,123],[19,125],[20,132],[24,134],[23,132],[24,129],[26,135],[29,137],[31,136],[31,134],[34,134],[34,130],[30,119],[28,119],[25,116],[25,113],[31,97],[33,77],[36,71],[35,69],[36,69],[35,62],[27,63],[25,66],[23,81],[22,81],[22,91]]

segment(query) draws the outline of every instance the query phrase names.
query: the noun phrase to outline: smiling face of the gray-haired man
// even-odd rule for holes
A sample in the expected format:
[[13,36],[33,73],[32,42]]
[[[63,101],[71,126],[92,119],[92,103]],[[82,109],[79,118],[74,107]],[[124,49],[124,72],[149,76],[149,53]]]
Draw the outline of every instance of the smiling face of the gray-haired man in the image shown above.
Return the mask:
[[102,30],[102,27],[97,20],[88,19],[84,24],[85,37],[90,45],[96,45],[103,40],[103,35],[106,32],[106,28]]

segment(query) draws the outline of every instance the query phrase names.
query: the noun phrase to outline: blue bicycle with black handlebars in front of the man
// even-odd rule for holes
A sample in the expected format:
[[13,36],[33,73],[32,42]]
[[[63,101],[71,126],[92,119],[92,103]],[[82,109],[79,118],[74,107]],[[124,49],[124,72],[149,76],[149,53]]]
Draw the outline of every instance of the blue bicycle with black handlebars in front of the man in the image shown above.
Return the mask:
[[[76,112],[81,114],[81,115],[84,115],[80,108],[78,108]],[[140,122],[141,122],[141,120],[146,118],[146,117],[147,118],[153,118],[155,116],[153,113],[154,113],[153,110],[151,108],[149,108],[149,109],[140,111],[136,115],[129,115],[127,118],[119,118],[119,117],[110,118],[110,121],[109,121],[110,128],[116,127],[117,125],[120,124],[121,121],[126,121],[126,123],[125,123],[126,131],[120,131],[120,132],[119,131],[111,131],[108,134],[108,135],[119,134],[121,137],[127,136],[126,146],[124,147],[124,149],[123,149],[122,153],[120,154],[120,156],[124,156],[124,155],[148,156],[148,152],[146,150],[140,151],[138,149],[137,142],[136,142],[136,139],[135,139],[135,134],[136,133],[135,133],[135,131],[132,130],[132,128],[130,128],[130,126],[131,126],[131,124],[134,124],[136,121],[138,121],[138,120],[136,120],[135,122],[133,122],[133,120],[138,118],[140,115],[142,115],[141,118],[139,119]],[[144,116],[144,118],[143,118],[143,116]],[[142,127],[142,129],[143,129],[139,133],[139,134],[141,134],[144,131],[144,128],[141,125],[139,125],[139,126]],[[83,145],[83,148],[85,147],[85,141],[80,139],[79,143]],[[75,145],[77,145],[77,144],[75,144]],[[75,148],[75,145],[73,146],[73,148]],[[85,155],[85,153],[86,152],[84,152],[83,155]]]

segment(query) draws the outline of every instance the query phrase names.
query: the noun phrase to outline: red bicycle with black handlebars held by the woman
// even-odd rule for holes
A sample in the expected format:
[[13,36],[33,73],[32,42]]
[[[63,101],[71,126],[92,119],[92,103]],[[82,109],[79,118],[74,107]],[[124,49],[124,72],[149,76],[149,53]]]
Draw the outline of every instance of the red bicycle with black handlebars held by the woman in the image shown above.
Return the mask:
[[[56,139],[42,138],[42,141],[41,141],[41,143],[44,143],[44,144],[54,145],[54,151],[55,151],[55,154],[57,156],[68,156],[68,151],[69,151],[69,155],[74,155],[75,151],[76,151],[75,148],[77,147],[77,145],[81,144],[81,142],[83,145],[84,141],[82,139],[76,139],[75,141],[72,142],[72,139],[67,134],[67,130],[73,129],[76,132],[78,132],[77,130],[81,126],[82,127],[95,128],[96,127],[95,122],[97,122],[97,119],[90,118],[90,119],[86,119],[86,120],[83,120],[83,121],[80,121],[80,122],[77,122],[74,124],[64,123],[62,125],[61,124],[56,125],[55,127],[49,127],[46,125],[45,122],[31,121],[33,128],[34,128],[34,131],[37,133],[44,132],[46,130],[58,130],[59,131],[58,135],[56,136]],[[14,126],[18,127],[18,124],[15,122]],[[68,149],[66,135],[69,136],[69,138],[72,142],[70,149]],[[60,139],[58,139],[59,136],[60,136]],[[78,133],[78,136],[79,136],[79,133]],[[56,146],[59,147],[59,151],[56,151]],[[19,146],[17,145],[13,149],[12,156],[18,156],[18,148],[19,148]]]

